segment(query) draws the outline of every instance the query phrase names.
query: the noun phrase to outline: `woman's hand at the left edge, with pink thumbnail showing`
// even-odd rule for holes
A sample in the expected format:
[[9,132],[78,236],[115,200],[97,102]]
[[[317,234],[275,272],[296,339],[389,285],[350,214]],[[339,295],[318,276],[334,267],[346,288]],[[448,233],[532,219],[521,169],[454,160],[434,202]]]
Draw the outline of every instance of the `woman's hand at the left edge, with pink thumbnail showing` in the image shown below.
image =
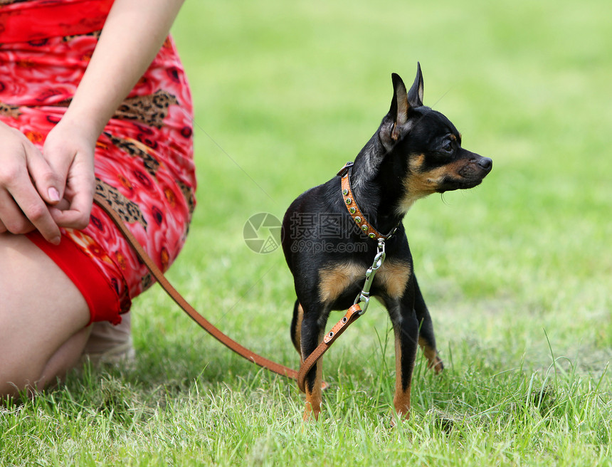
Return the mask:
[[0,233],[38,229],[51,243],[60,229],[50,206],[58,204],[63,183],[43,154],[19,130],[0,122]]

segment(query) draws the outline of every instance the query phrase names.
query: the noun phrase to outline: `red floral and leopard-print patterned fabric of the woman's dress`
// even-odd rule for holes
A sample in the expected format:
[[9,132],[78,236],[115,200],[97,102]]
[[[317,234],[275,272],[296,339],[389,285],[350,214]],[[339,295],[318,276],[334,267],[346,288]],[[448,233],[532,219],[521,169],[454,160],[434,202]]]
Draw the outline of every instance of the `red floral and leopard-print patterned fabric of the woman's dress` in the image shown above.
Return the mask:
[[[75,4],[73,14],[80,15],[85,4],[110,6],[110,2],[34,0],[0,5],[0,120],[42,148],[83,77],[99,31],[73,34],[66,24],[80,25],[82,18],[64,17],[60,36],[39,38],[40,33],[33,31],[34,40],[11,42],[2,29],[14,29],[4,10],[41,3]],[[36,24],[36,19],[30,22]],[[95,148],[97,193],[125,217],[162,271],[183,246],[195,206],[191,125],[189,86],[168,38]],[[97,206],[86,229],[63,229],[62,234],[62,241],[75,243],[102,272],[122,312],[130,308],[131,298],[152,285],[147,269]]]

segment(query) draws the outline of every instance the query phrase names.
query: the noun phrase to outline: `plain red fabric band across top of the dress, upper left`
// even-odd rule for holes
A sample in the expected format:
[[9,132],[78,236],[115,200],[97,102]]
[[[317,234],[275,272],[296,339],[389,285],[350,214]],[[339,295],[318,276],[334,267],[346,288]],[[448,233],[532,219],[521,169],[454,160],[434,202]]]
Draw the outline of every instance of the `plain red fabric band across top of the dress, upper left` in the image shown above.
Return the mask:
[[102,29],[112,2],[33,0],[0,6],[0,42],[37,41],[97,31]]

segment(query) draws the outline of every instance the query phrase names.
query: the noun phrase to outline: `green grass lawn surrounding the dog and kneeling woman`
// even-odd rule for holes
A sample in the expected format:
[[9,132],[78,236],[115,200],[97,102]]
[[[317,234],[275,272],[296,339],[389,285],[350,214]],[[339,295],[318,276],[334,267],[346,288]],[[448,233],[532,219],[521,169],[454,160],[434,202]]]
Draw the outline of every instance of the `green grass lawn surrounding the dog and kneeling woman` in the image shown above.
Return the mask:
[[292,278],[243,225],[354,159],[391,72],[410,83],[421,61],[425,103],[494,167],[405,219],[446,364],[434,377],[419,357],[411,419],[389,428],[379,305],[326,355],[332,387],[304,424],[295,384],[156,287],[134,303],[132,367],[0,407],[0,465],[612,465],[612,4],[411,3],[186,2],[199,206],[169,273],[228,335],[297,366]]

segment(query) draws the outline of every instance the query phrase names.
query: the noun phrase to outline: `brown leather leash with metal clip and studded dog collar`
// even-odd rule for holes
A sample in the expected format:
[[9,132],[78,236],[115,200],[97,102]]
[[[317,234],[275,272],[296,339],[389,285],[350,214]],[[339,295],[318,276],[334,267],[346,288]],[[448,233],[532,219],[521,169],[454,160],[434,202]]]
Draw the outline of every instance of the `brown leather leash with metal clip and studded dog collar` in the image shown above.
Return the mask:
[[[267,358],[262,357],[261,355],[258,355],[255,352],[252,352],[251,350],[248,350],[243,345],[240,345],[238,344],[238,342],[231,339],[231,337],[228,337],[227,335],[223,334],[221,330],[218,330],[218,328],[215,327],[209,320],[206,320],[204,316],[198,313],[198,311],[194,307],[189,305],[189,302],[187,302],[187,300],[183,298],[183,296],[172,286],[172,284],[169,283],[167,278],[164,276],[164,273],[162,273],[162,270],[157,267],[157,264],[155,264],[155,262],[147,254],[147,252],[144,251],[142,245],[140,245],[134,235],[132,235],[130,229],[127,228],[125,224],[125,219],[122,219],[121,214],[112,208],[110,202],[103,196],[100,196],[100,194],[95,194],[93,197],[93,201],[95,202],[95,204],[100,206],[100,208],[105,211],[108,216],[110,216],[110,219],[112,219],[115,226],[117,226],[117,229],[121,231],[126,241],[130,243],[130,246],[132,246],[132,248],[134,248],[134,252],[140,258],[142,263],[147,266],[154,278],[157,279],[159,285],[162,286],[162,288],[170,296],[170,298],[172,298],[172,300],[174,300],[174,302],[176,302],[176,304],[179,305],[179,307],[181,307],[181,309],[185,313],[187,313],[187,315],[189,315],[192,320],[198,323],[198,325],[206,332],[208,332],[212,337],[221,342],[221,344],[225,345],[233,352],[236,352],[238,355],[245,358],[246,360],[258,364],[260,367],[268,369],[273,373],[280,374],[280,376],[295,379],[297,381],[297,386],[300,388],[300,390],[302,392],[305,392],[306,375],[308,374],[308,372],[310,372],[310,369],[315,366],[317,361],[322,357],[323,354],[325,354],[325,352],[327,352],[327,349],[329,349],[329,347],[335,342],[335,340],[340,337],[340,335],[342,335],[342,332],[344,332],[347,327],[349,327],[349,325],[352,325],[352,323],[355,322],[357,318],[359,318],[365,313],[367,305],[369,303],[369,288],[371,286],[372,281],[374,280],[374,274],[384,261],[384,241],[386,240],[386,238],[389,238],[391,234],[393,234],[393,232],[386,236],[379,234],[379,232],[376,231],[376,229],[374,229],[374,227],[366,221],[362,212],[359,211],[357,202],[354,201],[354,196],[352,194],[349,182],[351,166],[352,162],[346,164],[338,173],[342,177],[342,195],[349,195],[349,198],[345,199],[345,201],[347,203],[347,209],[349,210],[349,214],[351,214],[354,221],[356,221],[357,224],[361,224],[363,222],[362,227],[367,226],[366,229],[362,229],[364,231],[364,234],[369,236],[369,238],[378,239],[378,253],[374,258],[374,263],[372,264],[371,268],[369,268],[366,272],[366,282],[364,284],[362,293],[357,295],[357,299],[355,300],[354,305],[352,305],[349,310],[347,310],[347,313],[342,317],[342,319],[339,320],[332,327],[332,329],[329,330],[329,332],[327,332],[325,337],[323,337],[323,340],[320,345],[306,358],[306,360],[302,362],[302,364],[300,365],[299,372],[296,372],[295,369],[285,367],[285,365],[283,364],[268,360]],[[359,305],[359,303],[362,302],[364,303],[363,308],[361,305]]]

